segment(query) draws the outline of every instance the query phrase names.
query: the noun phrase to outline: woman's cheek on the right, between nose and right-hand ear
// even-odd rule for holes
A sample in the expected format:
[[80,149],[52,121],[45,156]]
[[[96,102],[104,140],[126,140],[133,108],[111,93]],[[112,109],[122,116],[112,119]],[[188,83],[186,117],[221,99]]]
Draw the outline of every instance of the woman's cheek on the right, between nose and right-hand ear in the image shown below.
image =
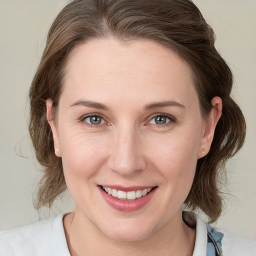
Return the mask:
[[199,138],[198,132],[179,132],[161,139],[158,137],[157,143],[151,141],[146,146],[151,163],[163,177],[163,185],[168,186],[168,191],[180,191],[183,197],[189,192],[197,163]]

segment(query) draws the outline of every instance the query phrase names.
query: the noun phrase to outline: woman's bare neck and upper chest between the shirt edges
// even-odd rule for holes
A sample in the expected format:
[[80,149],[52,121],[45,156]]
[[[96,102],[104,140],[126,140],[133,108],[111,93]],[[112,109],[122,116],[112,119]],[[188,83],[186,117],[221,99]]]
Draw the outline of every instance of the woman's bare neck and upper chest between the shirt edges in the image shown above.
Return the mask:
[[173,219],[163,228],[139,241],[111,239],[87,219],[81,221],[75,212],[64,217],[63,225],[71,256],[191,256],[195,241],[195,229],[188,227],[182,221],[181,213],[178,219],[178,222]]

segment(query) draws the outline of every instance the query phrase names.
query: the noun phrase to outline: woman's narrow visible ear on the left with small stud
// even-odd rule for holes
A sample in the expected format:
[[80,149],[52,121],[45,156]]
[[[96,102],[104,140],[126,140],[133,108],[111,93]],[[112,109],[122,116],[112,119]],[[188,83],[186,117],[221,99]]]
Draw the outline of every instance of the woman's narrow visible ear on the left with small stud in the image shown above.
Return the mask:
[[46,117],[53,136],[55,155],[61,157],[57,125],[52,115],[52,100],[49,98],[46,99]]

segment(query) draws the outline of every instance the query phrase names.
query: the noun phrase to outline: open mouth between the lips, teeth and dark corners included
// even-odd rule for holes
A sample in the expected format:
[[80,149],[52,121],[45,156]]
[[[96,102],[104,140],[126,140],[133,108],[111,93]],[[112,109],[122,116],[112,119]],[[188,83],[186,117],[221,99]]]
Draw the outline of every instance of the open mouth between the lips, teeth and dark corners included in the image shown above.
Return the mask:
[[108,195],[111,195],[114,198],[118,198],[120,200],[135,200],[147,195],[152,190],[154,190],[157,186],[131,190],[131,191],[122,191],[122,190],[118,190],[115,188],[102,186],[102,185],[100,185],[100,187],[105,193],[107,193]]

